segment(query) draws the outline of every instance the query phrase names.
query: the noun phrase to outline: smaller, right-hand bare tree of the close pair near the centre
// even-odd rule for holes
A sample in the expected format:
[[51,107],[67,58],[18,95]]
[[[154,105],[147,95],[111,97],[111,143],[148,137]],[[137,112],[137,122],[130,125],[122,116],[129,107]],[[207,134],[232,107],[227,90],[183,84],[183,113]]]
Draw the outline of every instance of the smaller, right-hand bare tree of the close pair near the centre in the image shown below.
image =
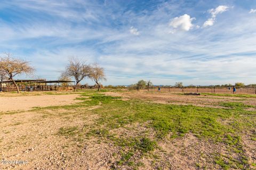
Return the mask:
[[98,85],[98,91],[100,91],[100,81],[107,80],[105,78],[105,72],[103,67],[100,67],[97,63],[91,66],[91,72],[89,77]]

